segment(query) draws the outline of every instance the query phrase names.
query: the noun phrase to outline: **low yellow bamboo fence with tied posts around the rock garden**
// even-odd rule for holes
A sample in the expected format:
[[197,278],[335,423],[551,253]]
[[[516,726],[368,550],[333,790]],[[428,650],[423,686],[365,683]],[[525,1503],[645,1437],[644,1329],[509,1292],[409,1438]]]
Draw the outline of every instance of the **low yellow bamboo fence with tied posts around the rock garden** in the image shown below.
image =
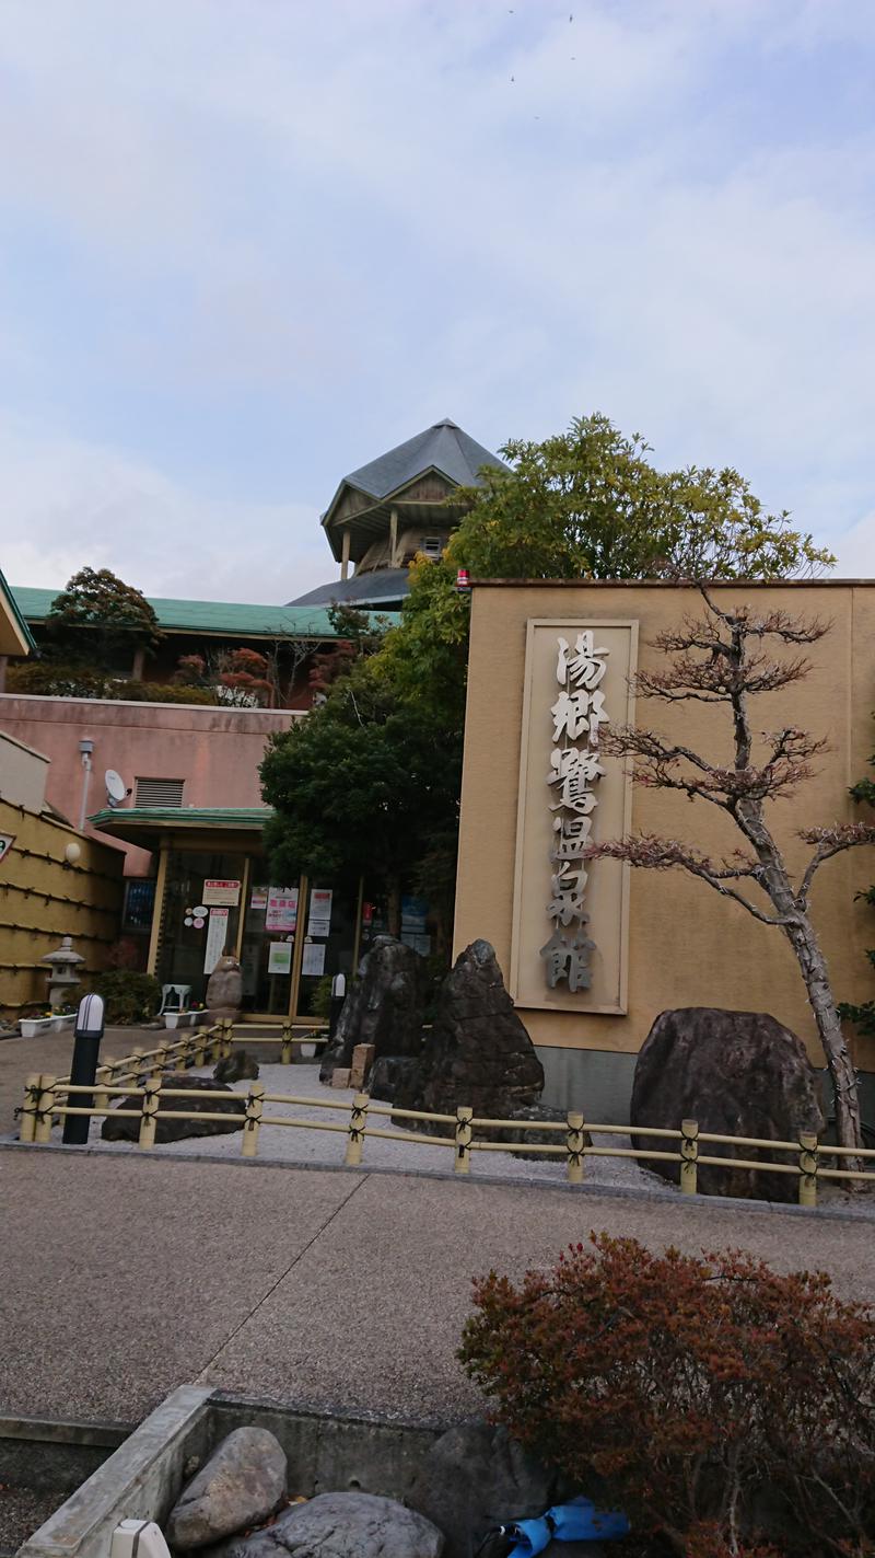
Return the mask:
[[[93,1086],[73,1086],[69,1077],[50,1077],[33,1073],[25,1083],[23,1103],[19,1108],[20,1140],[45,1145],[51,1140],[51,1126],[67,1116],[89,1116],[101,1119],[111,1112],[112,1100],[131,1100],[112,1114],[139,1119],[137,1145],[149,1148],[156,1145],[156,1130],[160,1117],[162,1098],[221,1100],[227,1103],[227,1092],[207,1092],[204,1089],[185,1089],[167,1086],[168,1070],[187,1070],[188,1067],[207,1066],[232,1053],[235,1042],[249,1039],[257,1044],[279,1044],[280,1059],[290,1064],[296,1044],[324,1042],[324,1035],[307,1033],[293,1035],[291,1024],[283,1024],[279,1036],[262,1036],[254,1033],[234,1033],[232,1024],[216,1024],[212,1028],[192,1030],[174,1042],[162,1042],[154,1050],[135,1049],[123,1059],[107,1059],[100,1066]],[[585,1178],[587,1158],[627,1158],[637,1162],[676,1162],[680,1165],[680,1190],[683,1195],[696,1195],[699,1167],[750,1168],[758,1173],[796,1175],[799,1181],[799,1204],[817,1206],[817,1184],[821,1179],[855,1179],[875,1181],[875,1150],[833,1147],[821,1144],[817,1136],[800,1133],[794,1142],[769,1140],[766,1137],[719,1136],[701,1131],[696,1120],[682,1120],[679,1130],[657,1126],[601,1125],[587,1120],[570,1109],[565,1120],[500,1120],[475,1116],[472,1108],[459,1106],[455,1114],[430,1114],[423,1109],[400,1109],[391,1103],[377,1103],[366,1092],[357,1092],[352,1103],[343,1098],[310,1098],[285,1092],[266,1092],[263,1083],[251,1083],[246,1094],[237,1094],[244,1102],[241,1154],[255,1158],[258,1154],[258,1136],[262,1126],[279,1125],[290,1130],[333,1131],[346,1136],[344,1162],[358,1167],[363,1162],[366,1139],[377,1137],[391,1142],[408,1142],[419,1147],[444,1147],[453,1154],[453,1172],[470,1173],[472,1153],[537,1153],[565,1161],[565,1175],[570,1184],[582,1184]],[[76,1103],[76,1098],[79,1102]],[[346,1114],[346,1120],[338,1119],[300,1119],[294,1116],[265,1114],[265,1106],[293,1105],[307,1109],[327,1111],[329,1114]],[[170,1111],[167,1111],[170,1112]],[[216,1109],[173,1109],[174,1120],[227,1120],[229,1111]],[[420,1131],[386,1130],[374,1125],[374,1120],[419,1120],[427,1125],[448,1126],[452,1134],[422,1134]],[[476,1131],[539,1131],[556,1134],[556,1145],[520,1140],[494,1140],[476,1136]],[[599,1136],[634,1136],[654,1140],[654,1147],[603,1147],[587,1142],[587,1134]],[[705,1148],[747,1147],[758,1151],[780,1153],[782,1161],[766,1158],[727,1158]],[[786,1159],[791,1161],[786,1161]],[[863,1167],[830,1167],[836,1159],[839,1164],[856,1159]]]

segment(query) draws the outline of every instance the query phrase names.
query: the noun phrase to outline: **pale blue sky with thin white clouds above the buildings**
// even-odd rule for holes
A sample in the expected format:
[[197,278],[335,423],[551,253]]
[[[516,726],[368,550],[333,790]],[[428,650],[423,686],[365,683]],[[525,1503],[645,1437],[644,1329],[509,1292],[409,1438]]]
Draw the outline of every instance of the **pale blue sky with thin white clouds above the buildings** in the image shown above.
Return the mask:
[[286,601],[599,410],[875,573],[870,0],[0,0],[0,567]]

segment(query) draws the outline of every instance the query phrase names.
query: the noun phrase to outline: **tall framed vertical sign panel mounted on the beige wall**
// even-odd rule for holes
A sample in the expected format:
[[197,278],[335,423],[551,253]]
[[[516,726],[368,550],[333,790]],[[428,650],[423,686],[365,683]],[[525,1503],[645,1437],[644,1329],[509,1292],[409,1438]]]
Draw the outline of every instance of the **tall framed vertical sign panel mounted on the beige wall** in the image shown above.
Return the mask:
[[601,735],[634,721],[637,628],[528,623],[509,983],[518,1006],[626,1011],[629,868],[589,849],[629,832],[631,777]]

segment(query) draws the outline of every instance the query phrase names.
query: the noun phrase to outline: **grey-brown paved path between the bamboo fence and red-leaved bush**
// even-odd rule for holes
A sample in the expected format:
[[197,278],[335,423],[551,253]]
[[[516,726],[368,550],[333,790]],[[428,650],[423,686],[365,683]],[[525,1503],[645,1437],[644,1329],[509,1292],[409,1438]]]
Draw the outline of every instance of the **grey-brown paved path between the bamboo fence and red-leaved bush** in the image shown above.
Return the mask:
[[[470,1276],[590,1228],[743,1245],[873,1292],[870,1217],[416,1175],[0,1147],[0,1415],[139,1421],[202,1380],[447,1419]],[[14,1346],[9,1341],[14,1338]]]

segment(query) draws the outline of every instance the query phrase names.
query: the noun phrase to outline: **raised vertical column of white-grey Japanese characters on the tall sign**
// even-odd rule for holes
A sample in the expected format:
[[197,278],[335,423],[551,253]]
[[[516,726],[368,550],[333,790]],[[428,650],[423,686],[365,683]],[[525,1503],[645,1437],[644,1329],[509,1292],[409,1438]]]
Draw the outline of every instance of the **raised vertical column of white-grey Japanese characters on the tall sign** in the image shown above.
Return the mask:
[[607,671],[609,650],[595,647],[595,633],[578,633],[573,648],[557,639],[556,682],[559,696],[553,717],[550,754],[550,810],[553,841],[550,849],[550,891],[546,916],[553,933],[540,949],[550,989],[567,982],[568,989],[592,985],[590,953],[595,941],[587,933],[585,849],[598,805],[598,784],[604,774],[599,762],[599,728],[609,715],[599,682]]

